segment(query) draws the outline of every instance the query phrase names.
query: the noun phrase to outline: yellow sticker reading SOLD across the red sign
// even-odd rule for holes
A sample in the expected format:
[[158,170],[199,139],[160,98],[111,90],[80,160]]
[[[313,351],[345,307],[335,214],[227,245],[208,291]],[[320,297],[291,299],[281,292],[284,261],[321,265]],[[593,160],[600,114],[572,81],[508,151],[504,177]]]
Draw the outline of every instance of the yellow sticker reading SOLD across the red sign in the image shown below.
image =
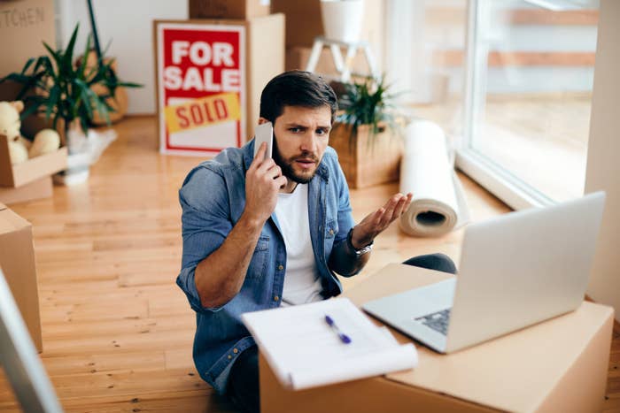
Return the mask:
[[167,106],[164,111],[170,134],[241,119],[236,93],[222,93],[189,103]]

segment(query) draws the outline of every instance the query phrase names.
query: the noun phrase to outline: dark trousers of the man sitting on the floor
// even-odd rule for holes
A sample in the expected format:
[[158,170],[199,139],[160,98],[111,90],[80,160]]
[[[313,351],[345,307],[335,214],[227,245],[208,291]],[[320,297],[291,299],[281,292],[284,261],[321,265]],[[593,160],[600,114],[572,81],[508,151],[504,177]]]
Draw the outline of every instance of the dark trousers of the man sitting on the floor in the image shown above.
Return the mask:
[[[456,266],[453,261],[444,254],[414,256],[403,264],[440,272],[456,273]],[[256,346],[247,348],[233,364],[230,370],[227,395],[241,411],[247,413],[260,412],[259,348]]]

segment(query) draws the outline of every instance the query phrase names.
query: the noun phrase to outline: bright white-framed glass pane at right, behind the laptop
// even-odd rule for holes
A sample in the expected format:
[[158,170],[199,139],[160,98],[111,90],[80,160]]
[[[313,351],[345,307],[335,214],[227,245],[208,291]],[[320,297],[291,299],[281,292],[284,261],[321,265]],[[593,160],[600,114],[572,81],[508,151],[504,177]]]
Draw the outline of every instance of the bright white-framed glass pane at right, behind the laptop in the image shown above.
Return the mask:
[[538,199],[582,195],[598,1],[471,3],[465,153]]

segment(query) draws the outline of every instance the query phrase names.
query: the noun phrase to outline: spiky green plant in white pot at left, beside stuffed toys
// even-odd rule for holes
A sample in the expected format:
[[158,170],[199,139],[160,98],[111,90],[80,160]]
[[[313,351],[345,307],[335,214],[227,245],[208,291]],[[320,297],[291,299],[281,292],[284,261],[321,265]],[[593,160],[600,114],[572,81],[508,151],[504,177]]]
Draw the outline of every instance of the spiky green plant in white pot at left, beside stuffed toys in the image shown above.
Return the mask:
[[[49,56],[31,57],[21,73],[11,73],[4,80],[12,80],[23,87],[17,96],[26,103],[21,118],[31,114],[44,115],[51,126],[65,138],[68,149],[68,168],[61,172],[63,183],[75,183],[88,179],[91,150],[86,133],[95,116],[110,125],[109,102],[116,88],[140,87],[136,83],[120,81],[114,72],[112,59],[99,58],[97,65],[87,65],[87,58],[74,64],[74,46],[79,25],[74,28],[66,50],[53,50],[43,42]],[[89,56],[90,36],[83,56]],[[97,94],[104,88],[107,94]]]

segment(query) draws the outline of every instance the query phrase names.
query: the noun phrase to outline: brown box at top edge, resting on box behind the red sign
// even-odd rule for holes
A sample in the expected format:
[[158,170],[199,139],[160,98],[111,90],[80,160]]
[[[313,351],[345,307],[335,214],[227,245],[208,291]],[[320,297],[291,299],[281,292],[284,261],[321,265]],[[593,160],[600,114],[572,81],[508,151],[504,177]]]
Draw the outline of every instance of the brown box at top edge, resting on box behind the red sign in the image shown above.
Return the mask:
[[264,0],[190,0],[190,19],[253,19],[269,14]]

